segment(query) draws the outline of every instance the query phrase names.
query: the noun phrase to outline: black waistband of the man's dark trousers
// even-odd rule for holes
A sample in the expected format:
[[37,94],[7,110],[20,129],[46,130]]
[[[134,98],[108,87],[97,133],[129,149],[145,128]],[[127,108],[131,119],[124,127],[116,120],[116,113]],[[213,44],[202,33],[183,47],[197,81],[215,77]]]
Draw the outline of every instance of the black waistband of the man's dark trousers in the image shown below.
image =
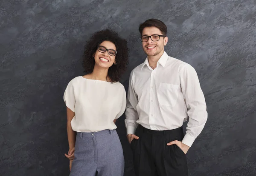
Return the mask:
[[147,129],[145,127],[143,127],[142,125],[138,125],[136,131],[140,131],[142,133],[148,133],[148,134],[152,134],[152,135],[179,135],[180,133],[183,134],[183,127],[179,127],[179,128],[175,128],[175,129],[172,129],[172,130],[161,130],[161,131],[158,131],[158,130],[150,130],[150,129]]

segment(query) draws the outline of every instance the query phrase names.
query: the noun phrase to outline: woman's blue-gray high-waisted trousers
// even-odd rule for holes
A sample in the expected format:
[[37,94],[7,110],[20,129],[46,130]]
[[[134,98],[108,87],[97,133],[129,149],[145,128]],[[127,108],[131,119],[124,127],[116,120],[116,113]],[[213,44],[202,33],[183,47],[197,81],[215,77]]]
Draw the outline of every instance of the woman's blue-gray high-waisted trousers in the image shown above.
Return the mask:
[[124,166],[116,130],[77,133],[70,176],[123,176]]

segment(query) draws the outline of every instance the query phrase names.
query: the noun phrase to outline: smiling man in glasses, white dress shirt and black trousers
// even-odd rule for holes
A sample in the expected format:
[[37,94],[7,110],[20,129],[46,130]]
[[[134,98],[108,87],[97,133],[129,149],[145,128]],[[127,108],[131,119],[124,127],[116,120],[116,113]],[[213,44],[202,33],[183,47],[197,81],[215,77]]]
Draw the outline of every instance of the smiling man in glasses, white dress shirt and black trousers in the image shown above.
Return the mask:
[[131,71],[125,113],[134,170],[137,176],[187,176],[186,153],[207,121],[204,94],[195,69],[164,51],[162,21],[146,20],[139,31],[147,58]]

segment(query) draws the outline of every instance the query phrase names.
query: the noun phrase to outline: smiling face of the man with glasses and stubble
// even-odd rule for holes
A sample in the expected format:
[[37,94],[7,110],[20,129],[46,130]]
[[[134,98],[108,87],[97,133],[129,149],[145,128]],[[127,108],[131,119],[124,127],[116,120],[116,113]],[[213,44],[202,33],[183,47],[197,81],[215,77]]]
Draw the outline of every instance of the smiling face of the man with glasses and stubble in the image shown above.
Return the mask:
[[[142,38],[143,36],[151,36],[154,34],[163,35],[157,27],[145,27],[142,31]],[[151,36],[151,38],[153,40],[158,39],[154,36]],[[168,42],[168,37],[160,37],[158,41],[152,41],[151,38],[148,38],[147,42],[142,42],[143,50],[148,56],[157,56],[158,54],[162,53],[164,46]]]

